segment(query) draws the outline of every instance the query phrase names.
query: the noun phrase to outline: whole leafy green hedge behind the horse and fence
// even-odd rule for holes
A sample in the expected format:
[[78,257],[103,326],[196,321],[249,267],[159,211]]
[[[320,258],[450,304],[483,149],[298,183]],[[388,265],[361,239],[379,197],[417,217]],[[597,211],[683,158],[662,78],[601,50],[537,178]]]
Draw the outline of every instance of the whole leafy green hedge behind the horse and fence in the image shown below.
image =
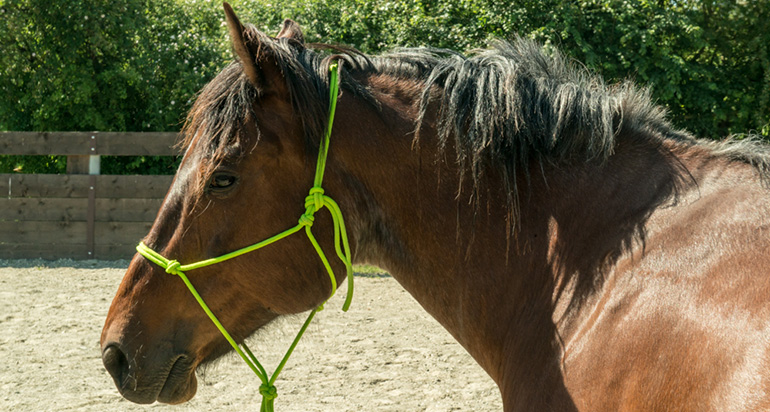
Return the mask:
[[[368,53],[468,50],[514,33],[609,81],[652,87],[702,137],[770,135],[770,2],[743,0],[233,0],[275,33]],[[220,1],[0,0],[0,130],[178,130],[195,93],[231,59]],[[37,162],[37,163],[35,163]],[[60,158],[0,159],[0,172],[62,170]],[[47,164],[45,166],[44,164]],[[171,172],[168,159],[106,159],[110,172]]]

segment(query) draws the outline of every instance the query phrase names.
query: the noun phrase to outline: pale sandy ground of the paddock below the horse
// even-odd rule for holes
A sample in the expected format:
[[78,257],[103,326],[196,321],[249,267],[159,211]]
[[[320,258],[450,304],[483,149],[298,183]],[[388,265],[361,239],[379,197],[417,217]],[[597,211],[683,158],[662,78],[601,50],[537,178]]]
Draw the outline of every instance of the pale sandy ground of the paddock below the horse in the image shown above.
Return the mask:
[[[127,262],[0,261],[0,411],[257,411],[259,382],[235,355],[169,406],[124,400],[102,366],[99,334]],[[278,379],[278,412],[500,411],[497,387],[390,277],[338,293]],[[249,340],[272,371],[304,320]],[[275,342],[268,346],[267,342]]]

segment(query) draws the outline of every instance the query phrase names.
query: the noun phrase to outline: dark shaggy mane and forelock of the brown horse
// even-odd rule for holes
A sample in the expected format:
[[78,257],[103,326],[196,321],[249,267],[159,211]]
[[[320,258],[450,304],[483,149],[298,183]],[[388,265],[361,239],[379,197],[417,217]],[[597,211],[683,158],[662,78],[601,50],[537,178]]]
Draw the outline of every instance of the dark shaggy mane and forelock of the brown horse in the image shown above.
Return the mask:
[[[317,150],[328,120],[328,65],[332,60],[342,62],[342,89],[375,109],[373,94],[356,80],[362,75],[385,74],[422,83],[416,143],[429,109],[437,104],[440,152],[453,143],[461,181],[466,175],[472,181],[472,199],[478,198],[485,172],[501,173],[514,224],[518,173],[529,181],[528,166],[533,161],[541,167],[604,161],[613,154],[616,137],[622,133],[699,145],[715,155],[753,164],[763,175],[770,170],[767,146],[753,139],[697,140],[672,126],[665,109],[654,104],[649,89],[639,89],[629,81],[608,86],[560,52],[548,52],[518,36],[510,42],[495,41],[490,48],[468,56],[435,48],[367,56],[352,48],[274,39],[252,25],[247,25],[246,35],[275,56],[302,122],[308,154]],[[208,145],[208,157],[216,164],[239,141],[237,131],[247,115],[256,119],[253,104],[258,98],[241,65],[230,63],[198,96],[185,122],[182,145],[189,146],[200,135]]]

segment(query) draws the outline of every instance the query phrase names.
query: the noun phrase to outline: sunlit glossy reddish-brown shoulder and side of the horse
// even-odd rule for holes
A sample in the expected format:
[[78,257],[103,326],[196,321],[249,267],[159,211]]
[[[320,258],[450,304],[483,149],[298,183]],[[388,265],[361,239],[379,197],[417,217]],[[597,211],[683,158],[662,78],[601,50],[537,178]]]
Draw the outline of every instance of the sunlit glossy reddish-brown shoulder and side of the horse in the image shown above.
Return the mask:
[[580,410],[770,407],[770,191],[713,173],[650,216],[566,342]]

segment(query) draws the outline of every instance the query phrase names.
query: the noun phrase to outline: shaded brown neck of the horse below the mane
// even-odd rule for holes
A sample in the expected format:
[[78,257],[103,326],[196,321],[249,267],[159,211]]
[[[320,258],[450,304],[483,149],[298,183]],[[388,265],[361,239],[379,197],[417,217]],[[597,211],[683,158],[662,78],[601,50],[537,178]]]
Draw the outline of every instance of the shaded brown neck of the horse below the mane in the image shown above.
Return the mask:
[[[572,314],[608,259],[633,245],[670,197],[673,166],[654,144],[632,138],[606,163],[533,164],[532,178],[518,184],[526,193],[509,234],[500,176],[487,173],[470,204],[454,148],[439,153],[430,118],[415,144],[418,93],[397,83],[377,96],[379,112],[340,101],[332,173],[346,193],[354,260],[388,270],[498,383],[509,380],[511,362],[542,369],[569,330],[562,320],[579,318]],[[639,180],[624,171],[629,162],[645,179],[629,183]]]

